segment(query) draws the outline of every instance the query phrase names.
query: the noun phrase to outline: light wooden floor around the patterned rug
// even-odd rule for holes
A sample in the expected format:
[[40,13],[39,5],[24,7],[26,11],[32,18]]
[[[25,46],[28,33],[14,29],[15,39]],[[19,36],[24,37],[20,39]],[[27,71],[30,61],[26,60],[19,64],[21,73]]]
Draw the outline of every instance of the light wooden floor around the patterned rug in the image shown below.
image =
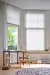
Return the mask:
[[[30,64],[30,65],[24,65],[24,66],[21,66],[23,68],[34,68],[34,67],[49,67],[50,68],[50,64]],[[22,68],[11,68],[9,70],[0,70],[0,75],[16,75],[16,72],[18,70],[20,70]]]

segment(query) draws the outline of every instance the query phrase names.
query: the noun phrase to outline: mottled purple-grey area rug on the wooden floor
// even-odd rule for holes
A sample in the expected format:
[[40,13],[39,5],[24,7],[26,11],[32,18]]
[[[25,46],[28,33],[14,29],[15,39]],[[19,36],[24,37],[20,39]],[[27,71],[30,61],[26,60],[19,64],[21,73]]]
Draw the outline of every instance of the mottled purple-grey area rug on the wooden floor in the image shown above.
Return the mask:
[[50,68],[25,68],[17,71],[16,75],[50,75]]

